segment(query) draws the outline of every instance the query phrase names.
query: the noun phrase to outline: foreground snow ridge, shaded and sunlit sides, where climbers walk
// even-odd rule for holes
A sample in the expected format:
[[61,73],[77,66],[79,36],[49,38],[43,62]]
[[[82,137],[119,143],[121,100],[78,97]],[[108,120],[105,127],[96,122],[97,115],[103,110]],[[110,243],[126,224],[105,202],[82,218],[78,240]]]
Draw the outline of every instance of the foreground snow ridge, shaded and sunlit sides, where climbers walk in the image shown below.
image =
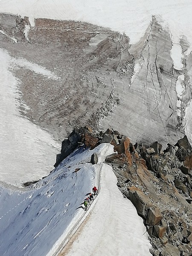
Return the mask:
[[[89,163],[93,152],[99,157],[96,165]],[[54,253],[61,250],[61,245],[67,243],[81,223],[86,228],[87,224],[82,222],[86,215],[89,215],[86,223],[90,221],[90,234],[99,234],[101,239],[103,235],[103,240],[107,239],[107,244],[100,244],[99,250],[95,248],[94,255],[99,255],[101,250],[114,256],[122,255],[127,249],[131,252],[134,244],[135,253],[132,255],[142,255],[143,252],[150,255],[142,219],[117,189],[112,168],[102,163],[112,152],[113,146],[106,143],[92,151],[80,148],[30,189],[1,188],[0,255],[56,255]],[[81,169],[75,172],[77,168]],[[85,212],[81,203],[93,185],[98,186],[99,195]],[[126,243],[125,233],[129,237]],[[115,239],[117,235],[118,239]],[[90,238],[84,237],[83,232],[82,238],[78,239],[76,248],[81,252]],[[96,241],[100,242],[98,238]],[[118,254],[116,250],[111,251],[112,247],[122,249]],[[88,254],[84,255],[90,255],[92,251],[91,246],[87,247]]]

